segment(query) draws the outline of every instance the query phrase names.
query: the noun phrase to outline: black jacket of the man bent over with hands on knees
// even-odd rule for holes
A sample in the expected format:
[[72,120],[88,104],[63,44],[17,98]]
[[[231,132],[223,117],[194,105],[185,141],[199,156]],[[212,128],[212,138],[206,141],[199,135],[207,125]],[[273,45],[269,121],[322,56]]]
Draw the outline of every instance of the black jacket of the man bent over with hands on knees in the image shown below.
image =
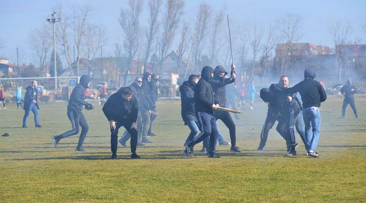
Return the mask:
[[105,102],[102,110],[108,121],[115,121],[122,126],[130,126],[137,120],[138,102],[134,95],[130,101],[123,99],[122,92],[111,95]]

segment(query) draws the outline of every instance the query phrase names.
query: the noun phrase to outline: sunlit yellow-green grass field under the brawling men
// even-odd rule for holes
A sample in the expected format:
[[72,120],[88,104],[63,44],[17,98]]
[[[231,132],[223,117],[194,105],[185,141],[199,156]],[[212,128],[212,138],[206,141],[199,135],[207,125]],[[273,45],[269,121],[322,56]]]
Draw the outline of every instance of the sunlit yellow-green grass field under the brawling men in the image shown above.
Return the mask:
[[[299,135],[299,155],[286,157],[275,128],[266,149],[256,151],[267,112],[259,99],[254,110],[246,108],[235,121],[243,152],[217,146],[219,159],[199,153],[202,144],[196,145],[193,158],[183,155],[189,129],[183,125],[180,101],[158,101],[157,111],[171,120],[155,120],[152,131],[158,136],[137,148],[142,159],[129,158],[129,143],[127,148],[119,145],[117,160],[109,159],[109,125],[97,105],[83,110],[88,152],[74,152],[79,135],[62,139],[55,149],[52,135],[70,130],[66,105],[40,103],[43,128],[34,128],[32,113],[28,128],[21,128],[24,111],[14,103],[0,110],[0,134],[10,134],[0,137],[0,202],[366,202],[364,97],[356,98],[358,119],[350,106],[346,118],[338,119],[341,97],[329,96],[322,104],[321,109],[333,110],[321,112],[316,151],[322,158],[306,156]],[[230,142],[221,121],[219,127]]]

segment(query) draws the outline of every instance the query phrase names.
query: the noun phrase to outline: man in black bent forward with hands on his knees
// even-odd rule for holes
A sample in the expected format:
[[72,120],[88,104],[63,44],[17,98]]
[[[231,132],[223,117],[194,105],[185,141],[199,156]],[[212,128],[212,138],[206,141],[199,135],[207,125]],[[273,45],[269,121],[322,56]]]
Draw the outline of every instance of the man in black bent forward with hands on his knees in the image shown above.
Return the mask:
[[136,154],[137,114],[139,105],[129,87],[121,87],[105,102],[102,110],[111,128],[111,159],[117,158],[118,129],[124,127],[131,134],[131,158],[140,158]]

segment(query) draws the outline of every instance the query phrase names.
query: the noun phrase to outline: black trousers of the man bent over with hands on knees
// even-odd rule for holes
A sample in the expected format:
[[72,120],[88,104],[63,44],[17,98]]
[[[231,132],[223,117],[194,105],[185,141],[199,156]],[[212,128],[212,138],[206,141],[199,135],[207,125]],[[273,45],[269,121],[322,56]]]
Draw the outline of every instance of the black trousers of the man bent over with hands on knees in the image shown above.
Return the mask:
[[126,128],[127,132],[131,134],[131,152],[136,152],[136,146],[137,146],[137,130],[135,128],[131,128],[132,123],[130,124],[122,124],[122,123],[116,123],[116,129],[112,129],[111,127],[111,151],[112,154],[117,154],[117,145],[118,145],[118,129],[120,127]]

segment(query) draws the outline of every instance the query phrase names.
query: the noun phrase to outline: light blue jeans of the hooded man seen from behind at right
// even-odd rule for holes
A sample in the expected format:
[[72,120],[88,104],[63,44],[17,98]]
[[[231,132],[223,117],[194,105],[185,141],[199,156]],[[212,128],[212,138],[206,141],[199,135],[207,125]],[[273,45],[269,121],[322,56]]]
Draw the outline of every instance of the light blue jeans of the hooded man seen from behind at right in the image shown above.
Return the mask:
[[[318,145],[320,133],[320,112],[318,107],[309,107],[303,109],[303,118],[305,124],[306,145],[308,151],[314,151]],[[312,131],[312,136],[311,136]]]

